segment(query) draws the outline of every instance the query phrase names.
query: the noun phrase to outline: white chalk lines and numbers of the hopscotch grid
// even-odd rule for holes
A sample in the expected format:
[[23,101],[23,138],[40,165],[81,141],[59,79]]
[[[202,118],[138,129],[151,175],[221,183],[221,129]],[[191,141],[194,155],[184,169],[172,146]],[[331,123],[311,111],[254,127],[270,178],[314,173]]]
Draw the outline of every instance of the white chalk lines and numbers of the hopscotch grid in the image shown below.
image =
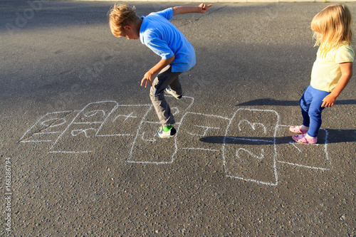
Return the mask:
[[[171,96],[172,97],[172,96]],[[253,181],[256,182],[258,184],[265,184],[265,185],[269,185],[269,186],[277,186],[278,185],[278,170],[277,170],[277,164],[287,164],[287,165],[291,165],[291,166],[296,166],[296,167],[304,167],[304,168],[308,168],[308,169],[318,169],[321,171],[325,171],[325,170],[329,170],[328,168],[325,167],[313,167],[313,166],[308,166],[305,164],[298,164],[298,163],[293,163],[293,162],[285,162],[285,161],[278,161],[277,157],[278,157],[278,152],[277,152],[277,147],[276,147],[276,135],[277,135],[277,130],[278,127],[290,127],[287,125],[279,125],[280,122],[280,117],[278,115],[278,113],[275,110],[257,110],[257,109],[239,109],[236,110],[234,112],[234,115],[229,118],[229,117],[223,117],[223,116],[219,116],[219,115],[206,115],[203,113],[197,113],[197,112],[187,112],[187,110],[190,109],[190,107],[192,107],[193,103],[194,103],[194,98],[192,97],[186,97],[184,96],[183,98],[189,98],[190,100],[192,100],[192,102],[190,102],[190,104],[187,106],[187,108],[184,110],[184,115],[182,115],[182,118],[179,122],[177,122],[177,134],[179,133],[179,130],[181,128],[181,125],[184,121],[184,118],[187,115],[201,115],[201,116],[206,116],[206,117],[216,117],[216,118],[220,118],[223,120],[228,120],[228,125],[226,126],[226,130],[225,130],[225,135],[224,135],[224,140],[222,142],[222,147],[221,150],[219,149],[205,149],[205,148],[201,148],[201,147],[182,147],[180,149],[197,149],[197,150],[204,150],[204,151],[210,151],[210,152],[221,152],[222,151],[222,159],[223,159],[223,169],[225,173],[228,173],[228,169],[226,167],[226,154],[225,154],[225,149],[226,149],[226,139],[237,139],[237,140],[245,140],[245,141],[251,141],[251,142],[266,142],[266,143],[271,143],[273,144],[273,148],[274,148],[274,155],[273,155],[273,175],[275,177],[275,181],[273,182],[267,182],[267,181],[260,181],[257,179],[247,179],[245,177],[239,177],[239,175],[229,175],[226,174],[226,177],[232,178],[232,179],[242,179],[244,181]],[[112,110],[110,110],[110,112],[108,112],[108,115],[105,115],[105,111],[104,110],[90,110],[89,112],[83,113],[85,111],[85,109],[87,109],[90,105],[99,105],[99,104],[105,104],[108,102],[113,102],[115,104],[115,106],[112,108]],[[145,115],[142,116],[142,119],[140,120],[140,125],[137,128],[137,132],[135,133],[135,135],[130,135],[130,134],[115,134],[115,135],[99,135],[100,130],[102,129],[102,127],[105,125],[105,122],[107,122],[108,118],[110,117],[110,115],[112,115],[113,112],[115,112],[115,110],[117,110],[118,107],[142,107],[142,106],[147,106],[147,110],[145,112]],[[41,117],[33,126],[31,126],[26,132],[25,134],[21,137],[19,142],[53,142],[52,140],[49,139],[43,139],[43,140],[23,140],[28,133],[33,129],[33,127],[37,126],[37,125],[41,125],[44,126],[46,128],[48,127],[58,127],[60,125],[64,125],[66,124],[66,119],[65,117],[68,116],[70,113],[73,112],[77,112],[77,114],[75,115],[75,117],[73,118],[73,120],[69,123],[68,126],[66,126],[66,129],[63,130],[63,132],[61,132],[61,135],[59,135],[56,139],[56,141],[52,144],[52,146],[50,147],[50,151],[48,153],[68,153],[68,154],[76,154],[76,153],[89,153],[89,152],[93,152],[93,151],[51,151],[51,149],[53,149],[53,147],[55,147],[56,143],[58,142],[59,139],[61,139],[61,137],[63,137],[63,135],[67,132],[67,130],[69,129],[70,125],[73,124],[97,124],[97,123],[101,123],[100,127],[98,128],[98,130],[95,133],[96,137],[112,137],[112,136],[132,136],[135,137],[132,145],[130,147],[130,152],[129,152],[129,158],[126,162],[130,162],[130,163],[136,163],[136,164],[172,164],[174,162],[174,158],[177,154],[177,151],[179,150],[178,144],[177,144],[177,135],[174,137],[174,153],[172,154],[171,160],[169,162],[149,162],[149,161],[145,161],[145,162],[140,162],[140,161],[133,161],[132,160],[132,152],[133,149],[135,147],[135,144],[137,142],[137,138],[140,137],[140,130],[142,128],[142,125],[144,123],[153,123],[153,124],[159,124],[159,122],[150,122],[150,121],[145,121],[147,115],[149,114],[150,111],[152,111],[152,105],[118,105],[118,103],[116,101],[113,100],[105,100],[105,101],[100,101],[100,102],[93,102],[93,103],[89,103],[88,105],[86,105],[83,110],[68,110],[68,111],[61,111],[61,112],[49,112],[46,115],[44,115],[43,117]],[[231,127],[231,123],[234,120],[234,117],[236,116],[236,114],[240,111],[240,110],[248,110],[248,111],[257,111],[257,112],[273,112],[276,117],[277,117],[277,122],[276,122],[276,126],[273,127],[274,130],[274,134],[273,134],[273,139],[248,139],[248,138],[244,138],[244,137],[231,137],[228,136],[228,132],[229,132],[229,128]],[[105,119],[102,122],[75,122],[75,120],[78,118],[79,115],[85,115],[87,117],[90,116],[94,116],[96,115],[97,112],[103,112],[103,117],[105,117]],[[177,109],[177,112],[179,112],[179,110]],[[43,120],[44,117],[48,116],[48,115],[56,115],[56,114],[63,114],[65,116],[63,117],[59,117],[56,119],[49,119],[49,120]],[[115,117],[114,120],[112,120],[112,122],[115,122],[115,120],[117,119],[117,117],[126,117],[125,121],[127,120],[127,118],[129,117],[135,117],[132,116],[132,112],[130,113],[130,115],[117,115]],[[49,121],[54,121],[52,124],[47,124]],[[56,124],[56,122],[58,122],[58,120],[62,120],[61,123]],[[241,120],[239,122],[239,126],[241,124],[241,122],[248,122],[248,124],[253,128],[253,130],[255,130],[255,126],[256,125],[262,125],[264,131],[266,132],[266,127],[264,127],[263,124],[255,122],[255,123],[251,123],[248,120]],[[53,125],[54,124],[54,125]],[[199,125],[196,125],[196,127],[199,127]],[[204,130],[204,134],[206,133],[206,131],[208,129],[215,129],[215,130],[219,130],[220,127],[204,127],[204,126],[200,126],[202,128],[205,128],[206,130]],[[94,129],[94,128],[93,128]],[[239,127],[239,129],[241,130],[241,128]],[[43,130],[43,129],[42,129]],[[56,134],[59,132],[36,132],[33,135],[46,135],[46,134]],[[187,132],[189,135],[195,135],[193,133],[189,133]],[[73,136],[73,133],[71,133],[71,135]],[[143,135],[144,132],[142,132],[142,139],[143,139]],[[201,135],[199,135],[201,136]],[[30,136],[31,137],[31,136]],[[302,152],[296,145],[295,142],[290,142],[291,145],[293,145],[293,147],[295,147],[295,149],[297,149],[299,152]],[[308,144],[307,144],[308,145]],[[315,144],[313,144],[315,145]],[[320,145],[320,144],[316,144],[316,145]],[[243,148],[241,148],[243,149]],[[326,160],[328,161],[328,163],[330,164],[330,167],[333,167],[331,162],[330,162],[330,158],[329,158],[329,154],[328,154],[328,130],[325,130],[325,144],[323,144],[323,149],[325,152],[325,156],[326,156]],[[236,150],[236,155],[238,155],[240,149]],[[251,153],[251,152],[250,152]],[[256,157],[255,158],[259,158],[259,159],[263,159],[263,149],[261,150],[261,157]]]

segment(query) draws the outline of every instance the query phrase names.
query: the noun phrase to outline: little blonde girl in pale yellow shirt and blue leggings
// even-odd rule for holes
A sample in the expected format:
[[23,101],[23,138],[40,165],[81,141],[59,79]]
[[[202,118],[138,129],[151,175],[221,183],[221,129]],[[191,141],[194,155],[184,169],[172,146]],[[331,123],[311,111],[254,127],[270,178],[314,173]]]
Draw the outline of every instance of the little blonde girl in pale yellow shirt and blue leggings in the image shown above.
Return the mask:
[[303,125],[289,130],[301,135],[292,139],[300,143],[316,143],[321,125],[321,112],[334,105],[337,96],[352,76],[351,13],[343,4],[331,5],[314,16],[310,26],[315,46],[319,46],[309,87],[300,98]]

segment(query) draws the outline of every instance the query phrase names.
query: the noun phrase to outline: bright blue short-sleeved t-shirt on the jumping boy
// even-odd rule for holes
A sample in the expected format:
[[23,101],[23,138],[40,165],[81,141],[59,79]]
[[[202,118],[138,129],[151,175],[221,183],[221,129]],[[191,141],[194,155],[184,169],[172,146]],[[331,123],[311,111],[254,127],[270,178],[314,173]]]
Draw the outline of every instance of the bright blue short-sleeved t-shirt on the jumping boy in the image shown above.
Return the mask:
[[184,72],[195,65],[195,52],[187,38],[169,22],[173,18],[173,9],[152,12],[142,16],[140,40],[161,58],[175,56],[172,72]]

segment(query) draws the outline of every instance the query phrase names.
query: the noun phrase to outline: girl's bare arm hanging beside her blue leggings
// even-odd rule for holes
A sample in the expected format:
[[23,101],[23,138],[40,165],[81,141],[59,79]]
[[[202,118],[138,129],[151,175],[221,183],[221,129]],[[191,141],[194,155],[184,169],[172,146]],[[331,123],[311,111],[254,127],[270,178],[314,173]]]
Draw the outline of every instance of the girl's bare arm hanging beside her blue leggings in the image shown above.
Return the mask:
[[341,78],[334,90],[323,99],[323,105],[321,107],[331,107],[334,105],[337,96],[340,95],[342,90],[346,87],[352,77],[352,62],[340,63]]

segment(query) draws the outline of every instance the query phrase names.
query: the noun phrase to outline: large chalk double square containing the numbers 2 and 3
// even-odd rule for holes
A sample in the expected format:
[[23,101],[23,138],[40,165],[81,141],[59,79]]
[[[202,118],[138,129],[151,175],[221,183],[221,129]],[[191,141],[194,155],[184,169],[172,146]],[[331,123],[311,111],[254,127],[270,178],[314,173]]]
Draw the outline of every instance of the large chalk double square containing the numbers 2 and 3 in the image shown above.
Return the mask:
[[229,177],[276,185],[275,136],[279,116],[274,110],[239,109],[226,128],[224,170]]

